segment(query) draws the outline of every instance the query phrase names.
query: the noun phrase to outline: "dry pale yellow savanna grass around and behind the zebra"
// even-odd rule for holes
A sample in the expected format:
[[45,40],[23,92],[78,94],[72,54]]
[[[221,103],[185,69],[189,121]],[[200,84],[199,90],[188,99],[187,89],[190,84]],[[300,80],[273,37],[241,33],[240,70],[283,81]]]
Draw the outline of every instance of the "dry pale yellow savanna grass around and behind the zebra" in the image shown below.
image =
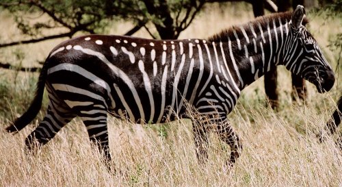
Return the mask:
[[[198,16],[181,38],[207,38],[229,25],[253,18],[250,6],[213,5]],[[334,70],[341,51],[328,45],[342,30],[342,19],[325,18],[308,12],[308,27]],[[12,17],[0,13],[0,42],[24,37]],[[108,34],[123,34],[130,23],[115,23]],[[135,36],[148,37],[144,30]],[[49,51],[62,40],[0,49],[0,61],[15,66],[39,66]],[[341,62],[340,62],[341,63]],[[342,152],[335,145],[341,136],[319,143],[315,133],[323,129],[341,93],[341,75],[334,88],[323,95],[308,83],[306,105],[291,101],[291,79],[285,68],[278,73],[280,108],[265,107],[263,78],[243,91],[229,119],[244,143],[244,151],[231,169],[224,169],[229,148],[211,134],[209,162],[196,159],[189,120],[164,125],[135,125],[109,117],[112,166],[107,171],[101,155],[90,144],[86,128],[75,119],[37,155],[24,151],[25,137],[44,116],[44,106],[29,127],[12,136],[4,128],[28,108],[38,73],[0,69],[0,186],[342,186]]]

